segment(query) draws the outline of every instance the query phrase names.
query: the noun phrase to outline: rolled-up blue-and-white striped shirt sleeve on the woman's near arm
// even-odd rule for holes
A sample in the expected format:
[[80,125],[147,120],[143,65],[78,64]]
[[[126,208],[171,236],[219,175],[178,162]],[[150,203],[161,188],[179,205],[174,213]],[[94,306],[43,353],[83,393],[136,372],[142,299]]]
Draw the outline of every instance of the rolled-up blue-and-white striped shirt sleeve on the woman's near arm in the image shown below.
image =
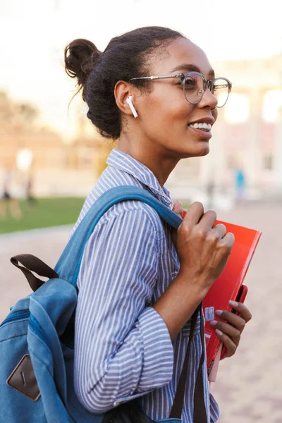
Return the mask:
[[75,391],[91,412],[106,412],[171,381],[171,338],[149,307],[159,236],[152,215],[133,209],[98,224],[85,247],[75,319]]

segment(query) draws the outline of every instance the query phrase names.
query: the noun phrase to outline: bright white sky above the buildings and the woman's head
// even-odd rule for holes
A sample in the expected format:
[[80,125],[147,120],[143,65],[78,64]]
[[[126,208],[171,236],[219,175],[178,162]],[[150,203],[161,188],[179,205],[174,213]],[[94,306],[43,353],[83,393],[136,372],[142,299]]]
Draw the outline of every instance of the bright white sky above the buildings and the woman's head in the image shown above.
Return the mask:
[[168,26],[213,61],[282,52],[281,0],[0,0],[0,90],[37,104],[42,123],[72,137],[74,82],[63,49],[75,38],[104,50],[111,37],[145,25]]

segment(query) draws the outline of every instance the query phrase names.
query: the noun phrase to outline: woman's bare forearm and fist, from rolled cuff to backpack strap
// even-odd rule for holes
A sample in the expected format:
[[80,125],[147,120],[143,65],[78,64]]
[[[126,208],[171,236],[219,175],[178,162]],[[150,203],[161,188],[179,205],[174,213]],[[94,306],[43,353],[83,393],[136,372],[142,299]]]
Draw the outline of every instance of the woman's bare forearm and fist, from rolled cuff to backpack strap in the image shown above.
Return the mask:
[[[181,215],[182,204],[176,202],[173,210]],[[215,223],[216,213],[212,210],[204,213],[203,205],[195,202],[178,231],[172,233],[180,271],[154,304],[172,341],[207,295],[231,253],[233,233],[226,233],[223,224]]]

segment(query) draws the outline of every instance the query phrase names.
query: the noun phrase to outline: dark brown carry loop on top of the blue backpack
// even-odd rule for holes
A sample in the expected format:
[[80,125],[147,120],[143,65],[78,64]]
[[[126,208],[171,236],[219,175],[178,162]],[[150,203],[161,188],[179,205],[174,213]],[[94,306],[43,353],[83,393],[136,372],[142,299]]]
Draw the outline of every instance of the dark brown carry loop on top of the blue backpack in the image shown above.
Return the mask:
[[[23,272],[33,291],[42,286],[44,281],[32,274],[32,271],[35,271],[37,275],[43,276],[44,278],[59,278],[56,271],[31,254],[21,254],[11,257],[11,263]],[[19,263],[23,264],[23,266],[20,266]]]

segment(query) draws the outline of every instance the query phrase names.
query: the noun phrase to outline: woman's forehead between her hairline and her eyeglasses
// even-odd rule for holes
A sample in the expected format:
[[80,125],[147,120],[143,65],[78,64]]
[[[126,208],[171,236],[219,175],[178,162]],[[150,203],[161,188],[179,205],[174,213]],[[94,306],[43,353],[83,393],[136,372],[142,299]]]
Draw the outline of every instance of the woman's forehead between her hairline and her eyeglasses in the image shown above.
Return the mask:
[[[198,68],[205,78],[214,78],[214,71],[204,51],[185,38],[174,39],[166,47],[167,54],[158,54],[152,63],[153,75],[166,75],[173,72],[196,71]],[[177,70],[177,71],[176,71]]]

